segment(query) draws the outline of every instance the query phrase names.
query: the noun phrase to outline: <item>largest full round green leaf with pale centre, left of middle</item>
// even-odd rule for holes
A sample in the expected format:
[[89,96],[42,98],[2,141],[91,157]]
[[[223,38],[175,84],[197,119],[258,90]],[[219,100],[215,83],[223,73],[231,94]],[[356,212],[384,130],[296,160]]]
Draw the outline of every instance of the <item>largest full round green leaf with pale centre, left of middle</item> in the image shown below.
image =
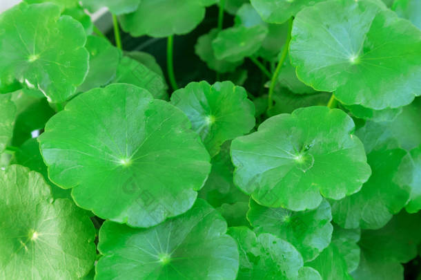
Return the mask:
[[128,84],[75,97],[38,140],[50,179],[77,205],[136,227],[190,209],[210,171],[186,115]]

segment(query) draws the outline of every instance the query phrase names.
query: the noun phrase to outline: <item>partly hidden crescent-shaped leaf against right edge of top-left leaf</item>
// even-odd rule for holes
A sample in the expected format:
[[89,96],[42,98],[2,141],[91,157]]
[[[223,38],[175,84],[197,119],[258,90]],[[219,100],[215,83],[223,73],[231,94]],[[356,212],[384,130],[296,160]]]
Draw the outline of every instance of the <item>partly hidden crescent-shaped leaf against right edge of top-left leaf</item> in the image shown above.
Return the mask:
[[85,82],[77,88],[79,92],[89,91],[111,82],[115,78],[120,62],[119,49],[112,46],[107,39],[90,35],[86,41],[86,49],[90,55],[89,72]]

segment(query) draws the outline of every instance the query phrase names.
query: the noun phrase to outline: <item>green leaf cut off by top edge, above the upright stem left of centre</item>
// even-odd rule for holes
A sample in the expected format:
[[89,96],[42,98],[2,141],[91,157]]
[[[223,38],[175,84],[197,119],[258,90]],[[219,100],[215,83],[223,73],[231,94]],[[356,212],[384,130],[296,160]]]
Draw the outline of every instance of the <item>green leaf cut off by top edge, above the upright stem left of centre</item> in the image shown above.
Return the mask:
[[133,37],[182,35],[204,19],[205,4],[197,0],[141,0],[135,12],[120,17],[120,23]]

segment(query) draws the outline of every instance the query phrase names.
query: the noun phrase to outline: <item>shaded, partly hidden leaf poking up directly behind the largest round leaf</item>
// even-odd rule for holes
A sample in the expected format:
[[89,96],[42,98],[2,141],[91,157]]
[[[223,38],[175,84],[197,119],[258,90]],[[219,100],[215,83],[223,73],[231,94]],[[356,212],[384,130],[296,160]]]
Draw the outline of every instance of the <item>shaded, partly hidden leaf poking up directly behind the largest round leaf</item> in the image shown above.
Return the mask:
[[123,57],[120,60],[116,77],[112,82],[134,84],[148,90],[154,98],[168,100],[166,92],[168,87],[164,78],[130,57]]

